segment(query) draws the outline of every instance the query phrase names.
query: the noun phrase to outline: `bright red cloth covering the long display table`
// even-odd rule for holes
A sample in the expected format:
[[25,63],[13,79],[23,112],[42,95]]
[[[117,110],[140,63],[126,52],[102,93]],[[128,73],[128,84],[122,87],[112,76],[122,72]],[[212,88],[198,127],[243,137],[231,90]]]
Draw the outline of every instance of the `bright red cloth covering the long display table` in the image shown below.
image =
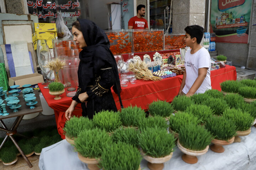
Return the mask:
[[[147,109],[149,103],[158,99],[171,102],[180,90],[182,77],[183,75],[177,75],[176,77],[162,79],[161,81],[137,80],[136,84],[129,83],[127,87],[122,87],[121,98],[123,106],[137,105],[142,109]],[[211,71],[210,77],[212,89],[220,91],[220,83],[225,80],[236,80],[236,68],[226,65],[226,68]],[[60,100],[54,100],[54,96],[49,94],[49,89],[43,89],[41,83],[39,83],[38,86],[49,107],[54,109],[58,132],[64,139],[65,136],[63,135],[62,128],[66,121],[65,111],[72,102],[71,97],[67,97],[64,93],[61,95],[62,98]],[[113,91],[112,94],[117,108],[120,109],[118,96]],[[81,112],[81,104],[78,104],[73,115],[81,116]]]

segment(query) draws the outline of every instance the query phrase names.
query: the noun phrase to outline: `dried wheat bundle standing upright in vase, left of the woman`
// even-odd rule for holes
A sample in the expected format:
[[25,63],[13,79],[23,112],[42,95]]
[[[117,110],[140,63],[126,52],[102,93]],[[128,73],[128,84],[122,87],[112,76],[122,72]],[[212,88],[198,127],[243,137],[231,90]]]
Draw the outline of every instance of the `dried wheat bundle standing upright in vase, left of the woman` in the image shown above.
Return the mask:
[[66,63],[64,61],[59,60],[59,58],[54,58],[53,60],[49,61],[46,66],[46,68],[49,68],[50,70],[54,71],[55,76],[55,82],[60,82],[59,79],[59,70],[62,69]]

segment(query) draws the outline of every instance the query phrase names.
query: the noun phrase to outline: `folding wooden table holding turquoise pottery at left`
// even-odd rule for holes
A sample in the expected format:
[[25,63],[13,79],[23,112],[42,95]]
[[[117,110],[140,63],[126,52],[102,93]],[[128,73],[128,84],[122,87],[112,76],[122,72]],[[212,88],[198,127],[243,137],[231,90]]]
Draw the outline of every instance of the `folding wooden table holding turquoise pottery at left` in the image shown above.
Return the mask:
[[[18,128],[18,125],[20,124],[22,118],[24,115],[27,115],[27,114],[32,114],[32,113],[38,113],[38,112],[42,112],[43,109],[42,109],[42,105],[41,105],[41,101],[40,101],[40,97],[38,95],[38,91],[35,90],[34,91],[34,94],[36,96],[36,101],[37,101],[37,104],[35,104],[35,108],[34,109],[30,109],[30,106],[27,106],[22,96],[22,93],[19,92],[18,94],[20,94],[18,97],[18,99],[20,100],[20,102],[18,104],[21,104],[21,107],[18,108],[19,111],[14,113],[13,110],[11,110],[9,108],[9,106],[6,106],[6,111],[7,113],[9,113],[9,115],[7,116],[0,116],[0,123],[2,124],[3,128],[0,127],[0,130],[3,130],[6,132],[6,137],[4,138],[4,141],[1,143],[0,145],[0,149],[2,148],[2,146],[4,146],[4,143],[6,142],[6,140],[8,139],[8,137],[11,138],[12,142],[14,143],[14,145],[17,147],[18,151],[21,153],[22,157],[25,159],[25,161],[27,162],[28,166],[31,168],[32,167],[32,164],[30,163],[30,161],[27,159],[26,155],[23,153],[23,151],[21,150],[21,148],[18,146],[18,143],[15,141],[14,137],[12,137],[13,135],[18,135],[18,136],[21,136],[21,137],[26,137],[26,136],[23,136],[21,134],[18,134],[17,133],[17,128]],[[4,102],[6,104],[6,101]],[[17,117],[16,120],[14,121],[14,124],[12,125],[12,127],[10,129],[8,129],[6,127],[6,125],[4,124],[4,121],[2,121],[2,119],[7,119],[7,118],[13,118],[13,117]]]

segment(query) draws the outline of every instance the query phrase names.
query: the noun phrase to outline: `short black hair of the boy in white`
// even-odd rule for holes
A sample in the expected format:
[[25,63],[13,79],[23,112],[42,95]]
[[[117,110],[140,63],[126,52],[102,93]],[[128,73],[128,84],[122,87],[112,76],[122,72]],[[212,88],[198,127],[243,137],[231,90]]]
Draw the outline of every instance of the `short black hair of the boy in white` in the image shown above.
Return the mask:
[[200,44],[203,34],[204,34],[204,28],[198,25],[193,25],[193,26],[187,26],[185,28],[185,31],[187,34],[191,36],[191,38],[196,38],[197,39],[197,44]]

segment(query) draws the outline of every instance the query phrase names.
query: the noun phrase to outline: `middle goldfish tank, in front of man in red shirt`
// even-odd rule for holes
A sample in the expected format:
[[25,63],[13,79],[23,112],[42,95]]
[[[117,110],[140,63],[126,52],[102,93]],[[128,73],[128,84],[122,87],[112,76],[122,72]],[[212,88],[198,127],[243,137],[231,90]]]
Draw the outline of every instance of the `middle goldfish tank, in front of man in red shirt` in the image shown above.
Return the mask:
[[164,50],[164,29],[134,29],[133,52]]

